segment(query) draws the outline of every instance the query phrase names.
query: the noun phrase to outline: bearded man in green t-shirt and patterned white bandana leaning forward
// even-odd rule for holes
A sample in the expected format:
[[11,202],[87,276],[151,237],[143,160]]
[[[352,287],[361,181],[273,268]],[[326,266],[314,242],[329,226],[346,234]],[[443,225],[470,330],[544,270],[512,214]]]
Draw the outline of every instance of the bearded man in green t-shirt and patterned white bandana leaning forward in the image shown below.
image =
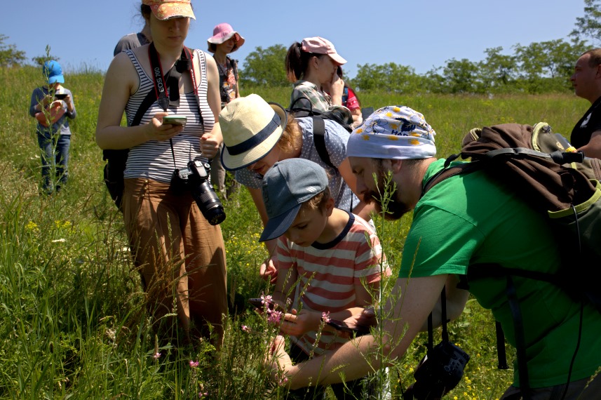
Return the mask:
[[[459,276],[466,275],[471,265],[492,263],[549,273],[560,267],[558,246],[543,216],[485,172],[447,178],[422,196],[424,184],[445,161],[434,157],[434,135],[419,112],[391,106],[366,119],[351,133],[347,145],[358,191],[366,201],[374,199],[381,210],[379,193],[384,193],[390,173],[396,190],[386,206],[386,218],[398,219],[414,211],[391,297],[395,300],[385,312],[391,316],[382,321],[384,350],[391,359],[402,356],[417,333],[425,330],[428,314],[433,312],[434,323],[440,325],[443,288],[448,317],[461,314],[471,293],[482,307],[491,309],[515,346],[506,280],[474,280],[468,292],[457,288]],[[519,332],[525,342],[529,380],[521,386],[529,387],[529,393],[520,393],[519,376],[525,375],[520,375],[516,362],[513,385],[501,399],[561,398],[566,386],[565,399],[599,399],[601,375],[586,384],[601,366],[601,314],[588,304],[581,309],[580,302],[553,284],[518,276],[512,280],[522,314]],[[281,343],[281,338],[276,339],[272,348],[281,357],[280,368],[292,388],[339,382],[341,374],[346,380],[356,379],[381,362],[372,351],[379,343],[371,335],[294,366]]]

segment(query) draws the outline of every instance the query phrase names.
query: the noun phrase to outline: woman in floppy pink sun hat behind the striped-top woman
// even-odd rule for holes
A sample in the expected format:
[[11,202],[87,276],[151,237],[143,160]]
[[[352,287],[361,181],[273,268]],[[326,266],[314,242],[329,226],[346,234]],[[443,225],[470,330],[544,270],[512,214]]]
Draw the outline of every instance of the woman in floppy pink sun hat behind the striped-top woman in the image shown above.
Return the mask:
[[[238,32],[234,31],[226,22],[213,28],[213,36],[207,39],[208,50],[213,53],[213,58],[219,70],[219,92],[221,96],[221,108],[235,98],[240,97],[240,88],[238,86],[238,60],[232,60],[227,55],[232,53],[244,44],[244,38]],[[228,192],[238,187],[236,180],[231,180],[231,185],[226,188],[225,168],[221,164],[220,147],[217,156],[211,162],[211,181],[217,184],[220,194],[227,199]]]

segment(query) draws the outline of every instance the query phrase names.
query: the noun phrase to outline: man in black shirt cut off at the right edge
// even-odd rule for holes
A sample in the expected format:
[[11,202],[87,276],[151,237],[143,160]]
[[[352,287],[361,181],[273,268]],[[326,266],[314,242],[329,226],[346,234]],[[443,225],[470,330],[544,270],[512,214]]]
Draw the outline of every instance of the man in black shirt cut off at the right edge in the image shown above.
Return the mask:
[[570,80],[574,93],[591,104],[574,126],[570,142],[585,156],[601,159],[601,48],[580,56]]

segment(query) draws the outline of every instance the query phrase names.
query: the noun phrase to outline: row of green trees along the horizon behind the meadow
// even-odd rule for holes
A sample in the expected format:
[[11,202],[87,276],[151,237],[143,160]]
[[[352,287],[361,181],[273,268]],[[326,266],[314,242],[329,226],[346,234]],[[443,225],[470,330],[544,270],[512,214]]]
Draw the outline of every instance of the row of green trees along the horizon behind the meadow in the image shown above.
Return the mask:
[[[569,77],[579,56],[601,42],[601,0],[583,0],[584,15],[576,18],[569,40],[515,44],[513,53],[502,47],[487,48],[485,59],[474,62],[452,58],[443,67],[417,74],[413,67],[389,62],[358,65],[353,79],[346,79],[358,91],[391,93],[557,93],[572,91]],[[25,63],[25,53],[5,44],[0,34],[0,67]],[[287,48],[275,44],[258,46],[239,69],[243,86],[289,86],[284,60]],[[48,55],[49,56],[49,55]],[[41,64],[48,57],[34,57]]]

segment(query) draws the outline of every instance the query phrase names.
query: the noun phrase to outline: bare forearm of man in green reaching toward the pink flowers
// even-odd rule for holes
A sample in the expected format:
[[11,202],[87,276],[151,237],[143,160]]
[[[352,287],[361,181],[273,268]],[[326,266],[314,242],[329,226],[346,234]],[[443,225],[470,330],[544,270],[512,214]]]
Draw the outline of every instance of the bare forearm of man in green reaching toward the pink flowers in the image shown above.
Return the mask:
[[[384,321],[381,337],[381,352],[389,359],[396,359],[405,353],[433,309],[446,281],[447,275],[397,279],[393,293],[386,302],[386,315],[389,312],[392,314]],[[375,354],[379,347],[377,338],[365,335],[324,356],[295,366],[283,351],[281,342],[276,341],[271,351],[275,353],[283,373],[288,376],[290,388],[297,389],[310,383],[329,385],[340,382],[341,372],[344,372],[346,380],[367,375],[373,368],[382,366],[381,357]]]

